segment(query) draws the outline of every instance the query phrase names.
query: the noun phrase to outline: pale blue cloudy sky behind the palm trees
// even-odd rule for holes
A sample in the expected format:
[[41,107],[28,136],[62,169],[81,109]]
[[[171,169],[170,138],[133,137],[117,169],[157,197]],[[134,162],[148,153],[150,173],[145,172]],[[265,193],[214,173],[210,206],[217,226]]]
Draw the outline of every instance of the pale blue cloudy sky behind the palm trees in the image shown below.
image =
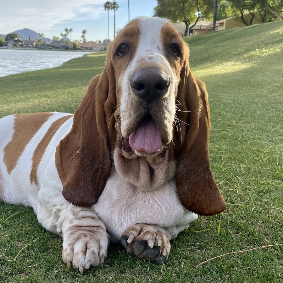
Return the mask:
[[[1,1],[0,34],[31,29],[46,38],[60,36],[65,28],[72,28],[72,40],[81,39],[87,30],[87,41],[107,39],[106,0],[9,0]],[[111,2],[111,1],[110,1]],[[116,0],[116,30],[128,22],[128,0]],[[130,19],[152,16],[154,0],[130,0]],[[109,11],[109,38],[114,37],[114,12]]]

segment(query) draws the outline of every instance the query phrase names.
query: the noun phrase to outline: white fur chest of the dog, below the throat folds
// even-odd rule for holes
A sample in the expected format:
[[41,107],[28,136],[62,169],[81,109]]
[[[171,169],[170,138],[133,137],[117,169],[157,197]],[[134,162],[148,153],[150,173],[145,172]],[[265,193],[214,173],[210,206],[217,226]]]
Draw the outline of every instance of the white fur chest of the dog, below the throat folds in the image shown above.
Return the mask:
[[94,210],[105,224],[111,239],[116,241],[136,223],[173,227],[181,225],[184,215],[188,214],[176,193],[175,180],[154,191],[142,191],[124,181],[115,169]]

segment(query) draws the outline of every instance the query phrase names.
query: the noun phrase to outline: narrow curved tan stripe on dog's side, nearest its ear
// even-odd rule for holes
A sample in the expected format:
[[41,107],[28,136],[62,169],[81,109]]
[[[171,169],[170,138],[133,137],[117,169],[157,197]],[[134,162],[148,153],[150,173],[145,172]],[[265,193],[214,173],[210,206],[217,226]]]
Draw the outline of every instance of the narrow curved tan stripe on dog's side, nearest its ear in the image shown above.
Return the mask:
[[56,120],[55,122],[53,122],[51,124],[51,126],[49,127],[49,129],[47,130],[44,137],[42,138],[42,140],[37,145],[37,147],[36,147],[36,149],[33,153],[33,156],[32,156],[32,166],[31,166],[31,174],[30,174],[31,183],[34,182],[36,185],[38,185],[37,169],[38,169],[38,165],[39,165],[39,163],[42,159],[42,156],[43,156],[49,142],[51,141],[51,139],[53,138],[53,136],[57,132],[57,130],[72,116],[73,115],[63,116],[63,117],[59,118],[58,120]]

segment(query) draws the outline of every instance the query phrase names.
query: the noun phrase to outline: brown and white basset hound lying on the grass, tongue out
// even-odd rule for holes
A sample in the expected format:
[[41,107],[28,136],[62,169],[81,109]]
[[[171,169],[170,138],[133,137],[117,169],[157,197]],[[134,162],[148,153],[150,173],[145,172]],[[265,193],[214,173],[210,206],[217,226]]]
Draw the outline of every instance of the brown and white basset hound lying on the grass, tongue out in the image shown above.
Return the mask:
[[134,19],[109,44],[75,114],[0,119],[0,199],[63,237],[63,261],[103,264],[109,242],[155,263],[197,214],[225,210],[208,160],[208,95],[170,22]]

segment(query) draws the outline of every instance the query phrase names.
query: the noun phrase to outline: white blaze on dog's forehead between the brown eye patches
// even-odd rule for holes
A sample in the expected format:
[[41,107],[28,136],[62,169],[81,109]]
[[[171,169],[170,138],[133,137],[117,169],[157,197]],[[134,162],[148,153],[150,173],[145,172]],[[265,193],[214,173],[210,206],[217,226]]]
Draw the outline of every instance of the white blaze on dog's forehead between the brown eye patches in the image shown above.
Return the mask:
[[140,22],[140,40],[136,50],[136,57],[150,50],[153,53],[163,54],[161,41],[161,28],[164,24],[170,23],[167,19],[150,18],[139,19]]

